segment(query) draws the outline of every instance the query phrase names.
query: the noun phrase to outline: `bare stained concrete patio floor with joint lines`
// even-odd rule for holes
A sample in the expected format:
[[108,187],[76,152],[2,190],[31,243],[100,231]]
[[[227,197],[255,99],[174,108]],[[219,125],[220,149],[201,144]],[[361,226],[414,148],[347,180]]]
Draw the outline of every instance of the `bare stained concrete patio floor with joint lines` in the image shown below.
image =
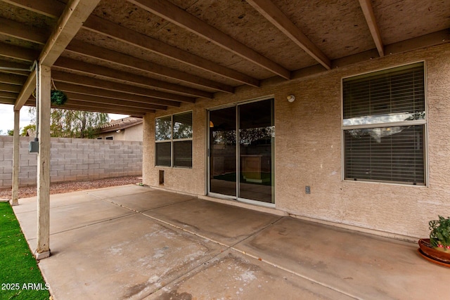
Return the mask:
[[[36,197],[14,211],[32,251]],[[51,195],[53,299],[447,299],[416,244],[138,185]]]

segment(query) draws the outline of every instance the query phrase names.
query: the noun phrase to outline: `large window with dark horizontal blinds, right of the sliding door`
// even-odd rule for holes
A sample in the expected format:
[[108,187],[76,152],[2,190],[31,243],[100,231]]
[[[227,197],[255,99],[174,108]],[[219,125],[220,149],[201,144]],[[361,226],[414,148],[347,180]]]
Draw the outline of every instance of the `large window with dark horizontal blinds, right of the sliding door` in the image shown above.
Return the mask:
[[425,74],[415,63],[342,81],[345,179],[425,184]]

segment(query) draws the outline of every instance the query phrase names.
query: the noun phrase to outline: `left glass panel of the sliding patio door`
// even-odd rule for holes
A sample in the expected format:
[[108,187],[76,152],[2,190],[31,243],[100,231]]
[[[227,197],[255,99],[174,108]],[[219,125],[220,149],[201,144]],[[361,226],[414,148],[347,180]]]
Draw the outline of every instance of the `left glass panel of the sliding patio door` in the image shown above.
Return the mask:
[[210,192],[236,197],[236,107],[210,112]]

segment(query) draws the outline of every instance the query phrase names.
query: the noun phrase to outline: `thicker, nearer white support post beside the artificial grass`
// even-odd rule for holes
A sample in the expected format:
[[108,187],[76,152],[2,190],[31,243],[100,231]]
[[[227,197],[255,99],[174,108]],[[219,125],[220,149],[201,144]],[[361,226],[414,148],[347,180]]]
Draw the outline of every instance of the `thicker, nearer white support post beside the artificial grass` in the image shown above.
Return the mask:
[[37,247],[35,255],[37,259],[45,259],[50,256],[51,70],[46,65],[39,65],[37,70],[39,152],[37,155]]

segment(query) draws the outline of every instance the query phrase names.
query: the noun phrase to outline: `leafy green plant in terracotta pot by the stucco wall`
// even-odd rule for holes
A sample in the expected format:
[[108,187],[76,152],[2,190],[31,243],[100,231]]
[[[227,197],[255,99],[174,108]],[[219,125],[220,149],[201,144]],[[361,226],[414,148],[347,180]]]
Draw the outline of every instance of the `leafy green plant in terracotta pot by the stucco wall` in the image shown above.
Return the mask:
[[450,267],[450,217],[439,216],[439,220],[432,220],[430,238],[420,239],[419,254],[425,259]]

